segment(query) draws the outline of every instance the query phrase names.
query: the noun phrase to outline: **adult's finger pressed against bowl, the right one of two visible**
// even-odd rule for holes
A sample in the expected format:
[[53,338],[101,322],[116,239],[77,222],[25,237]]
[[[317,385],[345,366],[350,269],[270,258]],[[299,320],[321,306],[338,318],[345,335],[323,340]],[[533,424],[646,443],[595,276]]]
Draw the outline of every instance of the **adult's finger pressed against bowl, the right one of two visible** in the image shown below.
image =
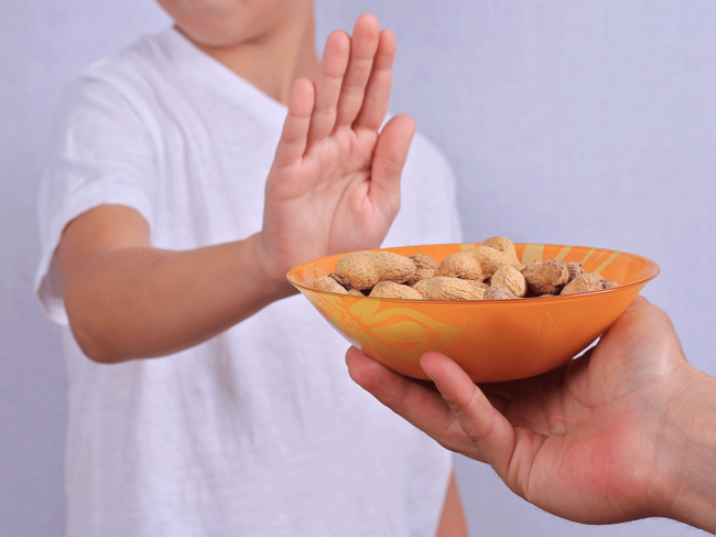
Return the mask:
[[420,361],[467,437],[502,480],[509,480],[516,449],[514,429],[455,362],[440,353]]

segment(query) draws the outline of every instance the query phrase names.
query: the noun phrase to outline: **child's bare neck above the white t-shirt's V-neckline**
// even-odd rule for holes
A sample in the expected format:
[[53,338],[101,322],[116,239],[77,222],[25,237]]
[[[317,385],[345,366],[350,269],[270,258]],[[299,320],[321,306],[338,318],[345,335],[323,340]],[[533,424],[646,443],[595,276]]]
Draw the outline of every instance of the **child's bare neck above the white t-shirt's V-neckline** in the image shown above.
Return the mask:
[[313,80],[318,73],[313,10],[303,21],[285,21],[247,42],[221,47],[196,45],[284,105],[297,78]]

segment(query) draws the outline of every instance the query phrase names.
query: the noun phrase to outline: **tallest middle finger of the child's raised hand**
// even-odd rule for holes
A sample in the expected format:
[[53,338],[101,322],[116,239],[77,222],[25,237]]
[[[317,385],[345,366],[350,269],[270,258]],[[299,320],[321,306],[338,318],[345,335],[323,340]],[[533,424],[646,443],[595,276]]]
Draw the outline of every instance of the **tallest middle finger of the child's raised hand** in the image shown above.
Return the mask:
[[360,111],[378,50],[379,29],[378,19],[373,15],[365,14],[356,21],[350,40],[350,60],[338,98],[336,126],[352,123]]

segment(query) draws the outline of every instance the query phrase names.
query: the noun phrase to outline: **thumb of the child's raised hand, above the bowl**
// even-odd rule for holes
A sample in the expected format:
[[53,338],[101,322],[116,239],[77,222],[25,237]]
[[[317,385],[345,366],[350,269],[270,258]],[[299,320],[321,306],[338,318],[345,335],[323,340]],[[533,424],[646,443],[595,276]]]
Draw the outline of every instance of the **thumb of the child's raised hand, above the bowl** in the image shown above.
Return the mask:
[[400,208],[400,176],[414,133],[413,118],[395,116],[386,123],[376,142],[369,195],[387,212],[397,213]]

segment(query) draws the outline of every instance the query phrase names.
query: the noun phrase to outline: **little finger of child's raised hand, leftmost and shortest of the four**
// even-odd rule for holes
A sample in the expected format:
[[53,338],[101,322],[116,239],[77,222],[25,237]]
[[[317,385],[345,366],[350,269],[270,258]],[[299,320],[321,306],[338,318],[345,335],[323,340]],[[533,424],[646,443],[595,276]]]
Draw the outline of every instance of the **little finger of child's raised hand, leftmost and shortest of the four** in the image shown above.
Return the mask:
[[307,78],[299,78],[289,96],[289,115],[283,123],[281,140],[276,149],[273,165],[284,168],[293,164],[303,157],[308,142],[311,112],[315,100],[313,83]]

